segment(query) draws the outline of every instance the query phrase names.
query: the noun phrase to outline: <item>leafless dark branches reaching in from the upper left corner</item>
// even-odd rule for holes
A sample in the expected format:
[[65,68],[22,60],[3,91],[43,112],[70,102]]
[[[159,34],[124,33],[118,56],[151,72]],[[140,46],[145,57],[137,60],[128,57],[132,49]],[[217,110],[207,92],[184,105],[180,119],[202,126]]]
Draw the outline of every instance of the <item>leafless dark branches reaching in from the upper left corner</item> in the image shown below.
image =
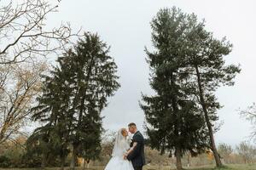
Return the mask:
[[72,33],[68,23],[46,29],[46,16],[57,12],[57,3],[7,0],[4,4],[0,1],[0,5],[0,64],[61,54],[70,44],[70,38],[77,35]]

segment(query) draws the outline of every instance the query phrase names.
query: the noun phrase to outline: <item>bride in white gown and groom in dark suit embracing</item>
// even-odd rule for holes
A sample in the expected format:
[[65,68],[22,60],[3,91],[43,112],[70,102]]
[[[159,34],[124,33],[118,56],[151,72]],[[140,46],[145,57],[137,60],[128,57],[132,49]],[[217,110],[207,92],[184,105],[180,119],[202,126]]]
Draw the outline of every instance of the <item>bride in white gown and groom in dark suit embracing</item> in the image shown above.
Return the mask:
[[119,130],[114,141],[112,158],[105,170],[143,170],[145,165],[143,134],[137,131],[133,122],[128,128],[129,132],[134,134],[132,139],[129,138],[125,128]]

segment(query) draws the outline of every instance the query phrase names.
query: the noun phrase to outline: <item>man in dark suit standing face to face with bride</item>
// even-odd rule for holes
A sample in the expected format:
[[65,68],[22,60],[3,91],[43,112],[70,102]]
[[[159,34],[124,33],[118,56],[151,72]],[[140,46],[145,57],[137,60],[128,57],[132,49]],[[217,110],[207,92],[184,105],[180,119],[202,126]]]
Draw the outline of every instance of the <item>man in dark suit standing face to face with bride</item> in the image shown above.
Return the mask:
[[131,151],[125,159],[131,161],[134,170],[143,170],[145,165],[145,155],[144,155],[144,138],[143,134],[137,131],[136,124],[131,122],[129,125],[129,132],[134,134],[131,142],[131,146],[137,143],[135,148]]

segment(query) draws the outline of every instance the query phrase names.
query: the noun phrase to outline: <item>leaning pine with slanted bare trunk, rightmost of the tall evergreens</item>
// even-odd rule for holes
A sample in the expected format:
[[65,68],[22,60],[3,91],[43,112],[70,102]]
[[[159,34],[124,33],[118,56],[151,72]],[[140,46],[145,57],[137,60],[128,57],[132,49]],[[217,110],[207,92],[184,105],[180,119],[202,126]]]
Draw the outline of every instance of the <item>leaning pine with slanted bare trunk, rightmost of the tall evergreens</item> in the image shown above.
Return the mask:
[[195,14],[189,15],[189,29],[184,42],[188,67],[187,74],[194,80],[195,94],[205,116],[210,145],[217,167],[222,163],[214,141],[214,122],[221,108],[215,96],[218,87],[234,85],[234,78],[240,72],[237,65],[226,65],[224,56],[230,54],[232,44],[225,38],[218,40],[212,32],[206,31],[204,21],[199,22]]

